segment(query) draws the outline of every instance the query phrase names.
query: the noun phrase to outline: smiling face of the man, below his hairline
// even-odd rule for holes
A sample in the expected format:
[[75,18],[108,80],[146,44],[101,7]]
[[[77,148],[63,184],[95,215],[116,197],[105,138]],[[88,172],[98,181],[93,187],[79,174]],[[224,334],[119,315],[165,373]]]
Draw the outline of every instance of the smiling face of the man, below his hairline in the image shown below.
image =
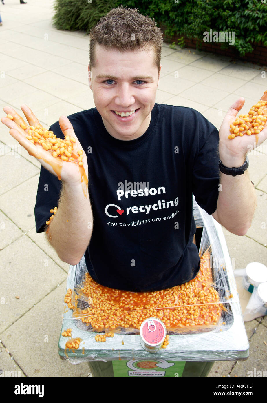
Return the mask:
[[[159,81],[154,59],[153,49],[119,52],[95,47],[89,86],[108,133],[116,139],[136,139],[149,127]],[[130,116],[116,114],[133,110]]]

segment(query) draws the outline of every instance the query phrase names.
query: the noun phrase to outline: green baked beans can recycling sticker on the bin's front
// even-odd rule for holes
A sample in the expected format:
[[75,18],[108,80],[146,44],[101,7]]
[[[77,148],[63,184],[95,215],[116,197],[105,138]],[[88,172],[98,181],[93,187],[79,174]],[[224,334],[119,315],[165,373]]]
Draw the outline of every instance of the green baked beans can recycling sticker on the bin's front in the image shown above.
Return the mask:
[[182,376],[186,361],[165,359],[135,359],[112,361],[114,377],[122,376]]

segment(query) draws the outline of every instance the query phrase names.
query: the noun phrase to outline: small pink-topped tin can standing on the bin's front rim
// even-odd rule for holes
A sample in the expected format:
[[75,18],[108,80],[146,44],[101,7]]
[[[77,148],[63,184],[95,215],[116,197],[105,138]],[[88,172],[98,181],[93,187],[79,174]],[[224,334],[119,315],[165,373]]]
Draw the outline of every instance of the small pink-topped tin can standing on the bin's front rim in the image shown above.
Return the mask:
[[140,343],[146,351],[159,351],[166,337],[166,326],[158,318],[148,318],[140,327]]

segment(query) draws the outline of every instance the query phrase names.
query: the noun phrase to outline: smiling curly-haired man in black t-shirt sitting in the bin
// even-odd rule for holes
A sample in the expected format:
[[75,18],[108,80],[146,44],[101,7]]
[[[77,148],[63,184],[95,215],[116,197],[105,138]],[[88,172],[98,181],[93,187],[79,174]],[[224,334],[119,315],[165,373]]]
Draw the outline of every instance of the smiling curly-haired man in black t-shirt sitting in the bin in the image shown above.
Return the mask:
[[[98,283],[129,291],[186,283],[200,263],[192,193],[229,231],[243,235],[250,226],[255,195],[248,172],[224,173],[219,180],[218,167],[219,156],[229,168],[244,164],[245,139],[235,145],[228,139],[229,121],[244,101],[230,108],[219,142],[217,129],[199,112],[155,103],[162,46],[155,21],[118,7],[91,29],[90,38],[95,108],[69,116],[68,125],[87,154],[89,197],[79,181],[65,175],[61,187],[41,168],[37,232],[46,230],[49,211],[58,206],[48,231],[51,245],[70,264],[84,254]],[[50,130],[63,138],[61,120]],[[139,189],[140,183],[147,185]]]

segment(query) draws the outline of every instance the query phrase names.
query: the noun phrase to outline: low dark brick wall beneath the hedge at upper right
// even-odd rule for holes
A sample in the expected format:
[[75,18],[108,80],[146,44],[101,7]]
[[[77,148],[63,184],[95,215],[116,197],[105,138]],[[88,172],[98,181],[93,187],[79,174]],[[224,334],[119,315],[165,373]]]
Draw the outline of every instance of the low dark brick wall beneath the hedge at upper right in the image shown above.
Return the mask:
[[[165,35],[165,27],[162,25],[159,25],[161,30],[163,31],[164,34],[164,40],[172,42],[178,42],[179,36],[167,36]],[[184,43],[186,48],[192,48],[196,49],[197,47],[197,40],[196,39],[190,39],[184,37]],[[261,64],[264,66],[267,66],[267,47],[263,46],[261,43],[258,43],[257,45],[253,46],[254,50],[253,53],[246,53],[244,57],[239,56],[239,52],[236,48],[232,48],[230,46],[227,49],[221,49],[221,44],[219,42],[203,42],[201,46],[201,50],[204,52],[211,52],[211,53],[217,53],[221,54],[224,56],[229,56],[233,59],[239,59],[239,60],[244,60],[246,62],[252,62],[256,64]]]

